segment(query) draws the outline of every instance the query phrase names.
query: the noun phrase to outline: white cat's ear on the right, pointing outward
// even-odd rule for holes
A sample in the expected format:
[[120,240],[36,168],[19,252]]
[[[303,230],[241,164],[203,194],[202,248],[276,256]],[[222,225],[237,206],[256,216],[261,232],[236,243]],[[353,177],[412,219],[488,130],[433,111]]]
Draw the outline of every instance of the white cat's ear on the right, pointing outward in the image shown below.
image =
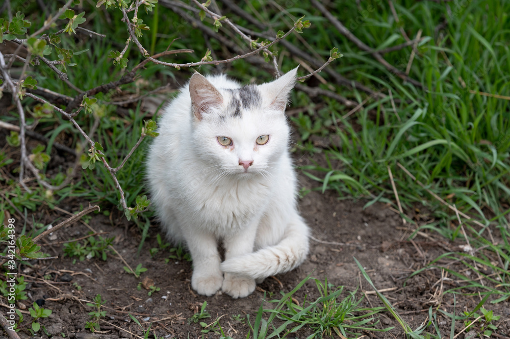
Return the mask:
[[296,67],[288,71],[273,82],[262,84],[259,86],[263,96],[269,98],[269,107],[277,111],[285,111],[287,102],[289,101],[290,91],[296,84]]

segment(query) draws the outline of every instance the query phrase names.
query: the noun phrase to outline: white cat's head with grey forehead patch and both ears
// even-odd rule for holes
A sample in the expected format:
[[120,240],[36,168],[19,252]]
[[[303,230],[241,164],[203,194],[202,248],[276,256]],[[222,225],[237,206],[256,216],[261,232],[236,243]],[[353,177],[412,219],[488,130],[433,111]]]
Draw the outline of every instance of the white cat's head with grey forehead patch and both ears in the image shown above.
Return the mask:
[[274,168],[288,147],[285,107],[296,71],[263,85],[230,89],[217,88],[225,84],[224,78],[210,82],[195,73],[189,91],[193,147],[200,160],[218,174],[249,176]]

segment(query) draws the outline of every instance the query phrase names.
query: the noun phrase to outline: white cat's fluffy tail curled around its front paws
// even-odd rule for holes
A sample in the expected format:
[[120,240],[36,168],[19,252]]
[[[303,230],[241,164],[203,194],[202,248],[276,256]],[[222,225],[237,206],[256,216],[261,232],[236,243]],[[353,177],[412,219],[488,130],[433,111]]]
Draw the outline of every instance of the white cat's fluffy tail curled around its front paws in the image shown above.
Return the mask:
[[299,266],[307,257],[308,247],[308,226],[301,217],[296,216],[295,220],[287,225],[281,242],[257,252],[227,259],[221,264],[221,270],[252,279],[264,279]]

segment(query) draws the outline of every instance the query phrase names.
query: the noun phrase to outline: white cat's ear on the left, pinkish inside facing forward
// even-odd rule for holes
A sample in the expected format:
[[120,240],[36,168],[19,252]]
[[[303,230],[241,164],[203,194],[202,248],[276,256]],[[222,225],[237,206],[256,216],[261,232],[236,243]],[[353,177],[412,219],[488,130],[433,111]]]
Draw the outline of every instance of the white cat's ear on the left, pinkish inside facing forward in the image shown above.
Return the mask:
[[191,110],[198,120],[202,119],[211,107],[220,106],[223,96],[205,76],[195,73],[190,79]]

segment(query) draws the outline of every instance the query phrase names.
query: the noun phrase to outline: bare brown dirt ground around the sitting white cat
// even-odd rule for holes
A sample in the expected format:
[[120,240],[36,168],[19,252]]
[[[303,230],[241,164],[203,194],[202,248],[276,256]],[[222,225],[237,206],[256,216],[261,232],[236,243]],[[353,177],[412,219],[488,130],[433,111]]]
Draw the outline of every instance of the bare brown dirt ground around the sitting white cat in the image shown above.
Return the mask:
[[[321,157],[321,155],[316,155]],[[302,157],[297,165],[308,162]],[[300,174],[302,187],[312,189],[318,183]],[[78,199],[69,199],[60,205],[61,210],[75,212],[80,210]],[[377,289],[386,291],[384,295],[390,300],[403,319],[417,328],[428,320],[428,308],[440,309],[460,315],[464,309],[473,309],[480,301],[479,296],[456,295],[455,306],[453,295],[447,294],[441,298],[441,289],[447,290],[462,286],[462,282],[454,277],[441,279],[439,269],[425,270],[419,275],[407,279],[409,275],[427,265],[430,260],[447,251],[460,251],[462,243],[447,243],[436,234],[421,232],[413,240],[410,235],[416,229],[415,225],[403,225],[398,214],[388,206],[374,204],[365,210],[366,201],[340,200],[336,192],[326,191],[324,194],[312,191],[299,201],[300,211],[312,228],[313,239],[309,258],[296,270],[287,274],[267,278],[258,285],[257,290],[247,298],[232,299],[227,295],[217,293],[212,297],[196,295],[190,288],[191,263],[186,260],[170,260],[165,263],[168,251],[160,251],[154,257],[149,249],[158,247],[156,235],[160,232],[156,222],[149,229],[149,237],[145,241],[139,255],[138,245],[141,240],[139,229],[133,223],[127,222],[117,208],[111,208],[110,216],[102,213],[93,214],[88,225],[84,222],[76,223],[67,229],[58,232],[52,241],[46,240],[43,250],[50,255],[58,255],[57,260],[36,262],[33,267],[24,266],[21,272],[28,281],[27,292],[30,298],[23,301],[28,307],[39,299],[45,299],[44,307],[53,310],[53,314],[40,322],[45,326],[53,338],[133,338],[134,334],[143,337],[140,328],[129,318],[128,313],[144,324],[151,323],[151,335],[155,333],[158,338],[197,338],[202,335],[206,338],[218,338],[218,332],[201,333],[199,324],[188,324],[188,319],[199,311],[203,302],[207,301],[206,310],[211,318],[201,320],[210,324],[221,317],[219,324],[225,334],[234,338],[245,338],[248,325],[245,315],[249,314],[253,321],[259,309],[264,291],[269,297],[281,296],[281,292],[291,291],[302,279],[312,274],[335,286],[345,286],[345,291],[354,291],[359,288],[357,296],[363,297],[363,306],[372,307],[381,305],[372,288],[361,276],[353,257],[358,259],[365,267]],[[46,215],[49,221],[57,217],[66,218],[61,211],[49,210],[43,206],[38,213]],[[417,212],[418,213],[418,212]],[[417,216],[421,217],[422,216]],[[421,220],[420,223],[424,221]],[[113,247],[118,255],[111,252],[106,261],[100,258],[77,260],[73,264],[70,257],[62,257],[62,242],[77,239],[94,232],[107,232],[103,237],[114,237]],[[122,257],[122,259],[120,258]],[[125,262],[131,267],[142,264],[148,270],[140,278],[124,271]],[[454,268],[454,267],[451,267]],[[45,277],[45,278],[43,278]],[[48,279],[49,278],[49,279]],[[145,289],[137,290],[137,285],[144,278],[154,280],[154,285],[161,290],[148,296]],[[70,281],[69,281],[70,280]],[[81,289],[78,289],[81,286]],[[473,291],[460,290],[462,293]],[[100,294],[106,300],[106,321],[100,323],[101,332],[91,336],[84,328],[89,320],[88,312],[92,307],[86,306],[87,301],[93,300]],[[313,281],[309,281],[294,295],[295,300],[302,302],[315,300],[319,293]],[[345,295],[344,295],[345,296]],[[4,301],[5,302],[5,301]],[[274,304],[265,303],[266,308]],[[501,319],[496,323],[498,331],[495,337],[509,335],[510,305],[501,302],[490,305],[496,315]],[[267,319],[269,315],[265,314]],[[443,336],[449,337],[451,319],[438,312],[438,326]],[[400,325],[389,314],[383,312],[377,328],[394,326],[389,332],[364,332],[361,335],[371,338],[403,337]],[[464,328],[462,321],[457,321],[455,333]],[[433,328],[427,331],[433,332]],[[40,331],[41,332],[41,331]],[[131,333],[133,334],[131,334]],[[28,332],[20,331],[22,338],[29,337]],[[288,337],[305,338],[310,335],[309,329],[303,328]],[[462,338],[461,334],[458,338]],[[474,334],[470,332],[469,335]],[[493,334],[494,335],[494,334]],[[499,335],[499,336],[497,336]],[[336,336],[336,335],[335,335]],[[43,337],[47,337],[43,334]],[[469,336],[466,336],[469,337]]]

